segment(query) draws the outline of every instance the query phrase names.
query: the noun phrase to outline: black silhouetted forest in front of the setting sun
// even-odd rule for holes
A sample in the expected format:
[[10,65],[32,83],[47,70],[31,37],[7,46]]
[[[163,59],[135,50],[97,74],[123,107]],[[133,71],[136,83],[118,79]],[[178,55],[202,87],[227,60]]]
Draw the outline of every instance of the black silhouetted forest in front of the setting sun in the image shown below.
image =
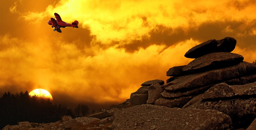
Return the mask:
[[[80,114],[81,113],[81,114]],[[62,116],[70,115],[72,118],[79,115],[88,115],[86,105],[80,105],[74,109],[68,109],[65,104],[50,102],[50,98],[44,96],[31,96],[28,91],[18,94],[4,93],[0,98],[0,129],[7,124],[18,125],[18,122],[51,123],[61,120]]]

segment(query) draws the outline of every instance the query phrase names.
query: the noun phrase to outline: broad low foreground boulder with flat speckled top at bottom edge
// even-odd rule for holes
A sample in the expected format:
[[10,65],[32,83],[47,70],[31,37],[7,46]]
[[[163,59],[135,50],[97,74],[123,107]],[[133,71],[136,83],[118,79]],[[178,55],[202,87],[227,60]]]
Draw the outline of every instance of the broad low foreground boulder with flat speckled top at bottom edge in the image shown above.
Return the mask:
[[168,108],[144,104],[114,114],[112,127],[122,129],[231,129],[231,119],[215,110]]

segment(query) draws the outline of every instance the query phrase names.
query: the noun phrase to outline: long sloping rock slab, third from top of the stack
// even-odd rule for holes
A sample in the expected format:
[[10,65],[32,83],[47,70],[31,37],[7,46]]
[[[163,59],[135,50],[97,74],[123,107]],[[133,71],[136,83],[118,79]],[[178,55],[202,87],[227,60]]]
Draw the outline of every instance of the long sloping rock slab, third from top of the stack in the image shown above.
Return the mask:
[[182,89],[194,89],[229,79],[250,75],[256,71],[256,65],[243,61],[234,66],[209,70],[202,73],[190,74],[169,82],[166,87],[169,91],[180,91]]

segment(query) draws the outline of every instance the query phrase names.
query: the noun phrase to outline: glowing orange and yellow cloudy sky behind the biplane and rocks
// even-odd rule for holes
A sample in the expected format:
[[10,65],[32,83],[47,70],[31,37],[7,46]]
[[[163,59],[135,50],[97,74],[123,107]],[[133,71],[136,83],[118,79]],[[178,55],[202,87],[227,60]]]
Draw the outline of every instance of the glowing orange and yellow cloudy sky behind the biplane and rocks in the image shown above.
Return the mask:
[[[0,95],[45,89],[55,102],[118,104],[169,78],[195,45],[226,36],[256,59],[256,1],[0,0]],[[79,28],[54,32],[57,12]]]

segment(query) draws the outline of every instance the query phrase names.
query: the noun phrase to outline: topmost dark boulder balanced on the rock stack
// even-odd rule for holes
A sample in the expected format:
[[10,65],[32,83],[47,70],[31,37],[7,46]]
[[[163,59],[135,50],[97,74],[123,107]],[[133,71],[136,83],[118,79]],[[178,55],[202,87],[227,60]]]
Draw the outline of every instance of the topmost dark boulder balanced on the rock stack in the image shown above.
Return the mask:
[[236,43],[237,41],[232,37],[225,37],[221,40],[208,40],[189,49],[185,57],[198,58],[213,52],[231,52],[235,49]]

